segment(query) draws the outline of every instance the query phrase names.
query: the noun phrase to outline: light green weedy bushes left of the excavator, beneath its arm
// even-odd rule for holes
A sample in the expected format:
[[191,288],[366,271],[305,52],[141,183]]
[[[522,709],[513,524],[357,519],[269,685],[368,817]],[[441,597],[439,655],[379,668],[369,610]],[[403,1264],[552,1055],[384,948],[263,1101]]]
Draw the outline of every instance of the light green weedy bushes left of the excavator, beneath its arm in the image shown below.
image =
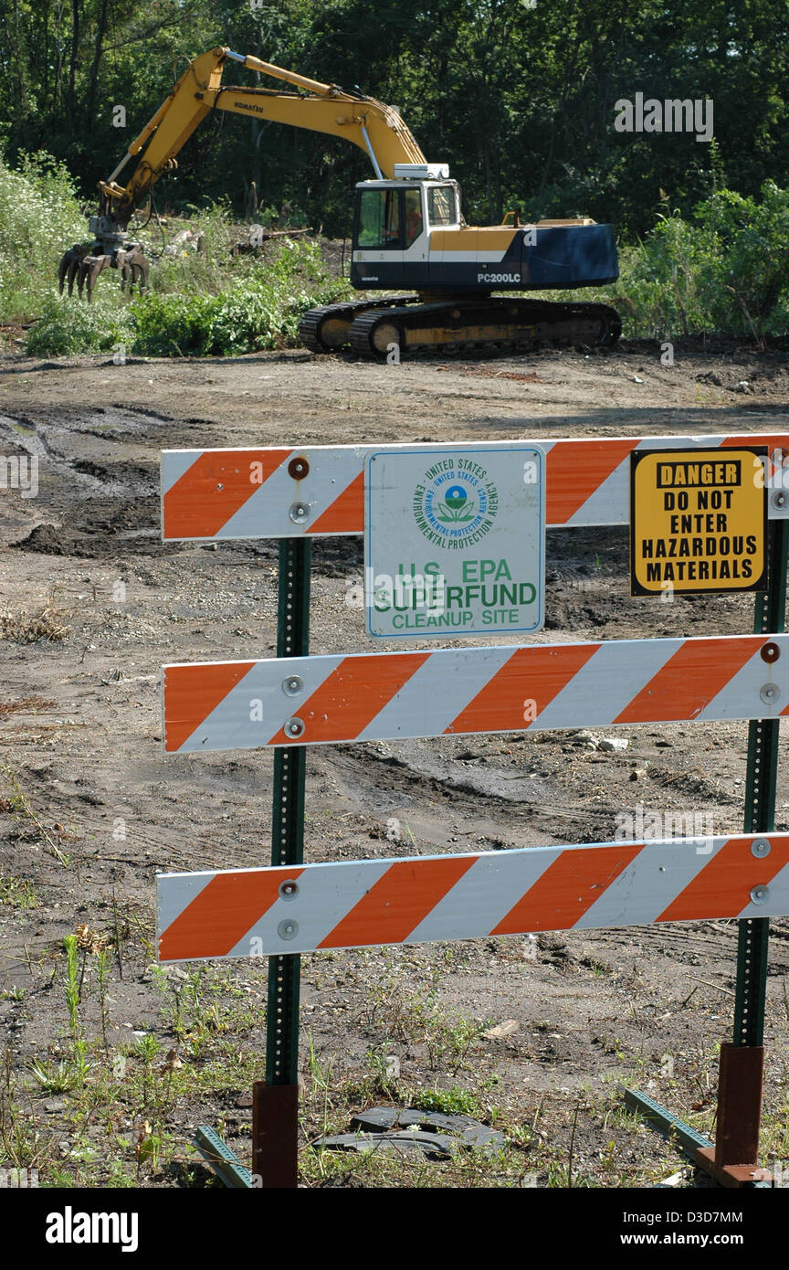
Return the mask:
[[[52,249],[52,208],[44,193],[36,198],[42,180],[48,189],[52,178],[63,179],[52,165],[42,168],[41,160],[27,165],[27,175],[9,171],[0,161],[0,319],[34,319],[27,338],[30,353],[186,357],[279,348],[296,342],[306,309],[353,293],[345,279],[331,276],[318,243],[303,237],[277,240],[260,258],[233,258],[233,225],[227,210],[214,206],[189,221],[202,250],[157,262],[143,296],[123,296],[118,274],[107,273],[91,304],[76,295],[61,297],[55,281],[60,250],[57,239]],[[5,245],[9,204],[4,190],[10,182],[22,189],[24,246],[34,268],[18,263],[15,244]],[[70,225],[68,212],[74,216],[75,211],[63,187],[60,226]]]

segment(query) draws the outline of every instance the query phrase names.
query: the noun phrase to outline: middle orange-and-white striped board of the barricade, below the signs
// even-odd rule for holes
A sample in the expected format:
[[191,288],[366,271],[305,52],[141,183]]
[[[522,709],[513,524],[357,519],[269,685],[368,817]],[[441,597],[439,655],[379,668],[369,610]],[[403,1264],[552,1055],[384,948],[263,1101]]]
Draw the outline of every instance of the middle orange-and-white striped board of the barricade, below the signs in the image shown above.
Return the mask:
[[778,719],[786,711],[789,635],[351,653],[164,669],[169,753]]

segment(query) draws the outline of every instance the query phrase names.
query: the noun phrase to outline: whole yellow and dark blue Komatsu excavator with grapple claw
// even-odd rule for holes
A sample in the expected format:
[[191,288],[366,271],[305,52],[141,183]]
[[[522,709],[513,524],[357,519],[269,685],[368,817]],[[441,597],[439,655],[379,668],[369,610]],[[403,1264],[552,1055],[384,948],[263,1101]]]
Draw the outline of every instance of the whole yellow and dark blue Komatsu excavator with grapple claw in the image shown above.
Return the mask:
[[[222,86],[228,62],[241,62],[293,86]],[[88,298],[105,268],[121,271],[122,286],[145,287],[148,262],[128,232],[134,212],[212,110],[232,110],[345,137],[369,156],[375,177],[356,185],[350,281],[358,291],[414,290],[377,300],[326,305],[306,312],[303,343],[315,352],[350,345],[364,357],[384,357],[393,345],[420,349],[526,347],[534,343],[613,344],[620,333],[615,309],[601,304],[557,304],[495,292],[575,290],[614,282],[619,274],[614,231],[587,218],[472,227],[460,211],[460,190],[443,163],[427,163],[398,112],[360,91],[321,84],[258,57],[213,48],[195,57],[112,175],[99,183],[94,235],[70,248],[60,265],[60,288],[76,282]],[[140,156],[126,185],[118,174]]]

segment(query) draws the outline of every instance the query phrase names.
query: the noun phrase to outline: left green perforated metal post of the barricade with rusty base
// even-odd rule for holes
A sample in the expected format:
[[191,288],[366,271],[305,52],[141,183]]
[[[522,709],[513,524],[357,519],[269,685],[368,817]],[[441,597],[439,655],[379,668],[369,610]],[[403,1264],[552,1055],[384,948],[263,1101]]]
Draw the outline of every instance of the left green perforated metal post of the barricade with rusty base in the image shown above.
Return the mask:
[[[310,538],[279,544],[278,657],[310,652]],[[271,864],[299,865],[304,853],[306,749],[274,754]],[[264,1187],[297,1185],[298,1006],[301,958],[269,958],[266,1078],[252,1090],[252,1162]]]

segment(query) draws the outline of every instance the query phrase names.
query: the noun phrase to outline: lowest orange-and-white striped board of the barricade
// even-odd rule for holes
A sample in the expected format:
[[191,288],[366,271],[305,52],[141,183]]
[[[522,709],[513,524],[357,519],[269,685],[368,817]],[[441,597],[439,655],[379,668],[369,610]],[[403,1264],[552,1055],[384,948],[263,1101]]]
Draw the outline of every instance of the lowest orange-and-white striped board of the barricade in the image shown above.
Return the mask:
[[273,956],[789,912],[789,833],[159,878],[159,958]]

